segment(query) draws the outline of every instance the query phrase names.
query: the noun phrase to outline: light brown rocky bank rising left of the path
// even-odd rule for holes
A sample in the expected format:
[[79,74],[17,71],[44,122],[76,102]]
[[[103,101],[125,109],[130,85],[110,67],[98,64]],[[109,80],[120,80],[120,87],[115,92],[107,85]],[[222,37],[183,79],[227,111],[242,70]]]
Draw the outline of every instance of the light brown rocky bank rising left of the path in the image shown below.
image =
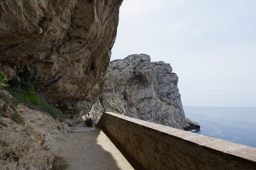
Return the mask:
[[65,139],[64,134],[70,132],[68,125],[22,104],[15,110],[23,121],[18,124],[4,115],[14,112],[10,110],[12,96],[4,90],[0,94],[4,95],[0,100],[0,169],[52,169],[54,161],[60,159],[54,154],[56,141]]

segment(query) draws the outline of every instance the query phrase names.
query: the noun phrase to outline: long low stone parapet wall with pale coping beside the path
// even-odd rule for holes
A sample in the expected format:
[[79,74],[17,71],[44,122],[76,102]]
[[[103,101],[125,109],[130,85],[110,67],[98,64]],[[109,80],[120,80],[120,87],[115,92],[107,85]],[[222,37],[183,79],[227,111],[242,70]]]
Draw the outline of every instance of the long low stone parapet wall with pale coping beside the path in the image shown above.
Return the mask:
[[98,126],[135,169],[256,169],[256,148],[104,113]]

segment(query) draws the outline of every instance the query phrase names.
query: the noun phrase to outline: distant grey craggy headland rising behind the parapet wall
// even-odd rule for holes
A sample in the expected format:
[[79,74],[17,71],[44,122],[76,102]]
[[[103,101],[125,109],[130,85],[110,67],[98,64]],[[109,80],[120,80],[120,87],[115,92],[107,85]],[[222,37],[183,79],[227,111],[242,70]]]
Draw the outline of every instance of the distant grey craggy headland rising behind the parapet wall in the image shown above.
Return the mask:
[[198,129],[200,126],[184,115],[177,84],[170,64],[150,62],[146,54],[111,61],[90,117],[113,111],[179,129]]

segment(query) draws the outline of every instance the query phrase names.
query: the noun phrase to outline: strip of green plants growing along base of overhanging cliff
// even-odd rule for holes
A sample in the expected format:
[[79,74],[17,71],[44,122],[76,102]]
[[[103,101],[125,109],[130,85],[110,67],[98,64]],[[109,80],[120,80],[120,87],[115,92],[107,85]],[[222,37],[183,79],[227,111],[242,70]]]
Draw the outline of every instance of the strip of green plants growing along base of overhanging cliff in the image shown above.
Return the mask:
[[31,109],[45,111],[60,121],[63,121],[63,118],[67,118],[59,109],[54,108],[43,97],[39,96],[30,83],[21,83],[21,89],[6,87],[6,90],[16,99],[16,103],[24,103]]

